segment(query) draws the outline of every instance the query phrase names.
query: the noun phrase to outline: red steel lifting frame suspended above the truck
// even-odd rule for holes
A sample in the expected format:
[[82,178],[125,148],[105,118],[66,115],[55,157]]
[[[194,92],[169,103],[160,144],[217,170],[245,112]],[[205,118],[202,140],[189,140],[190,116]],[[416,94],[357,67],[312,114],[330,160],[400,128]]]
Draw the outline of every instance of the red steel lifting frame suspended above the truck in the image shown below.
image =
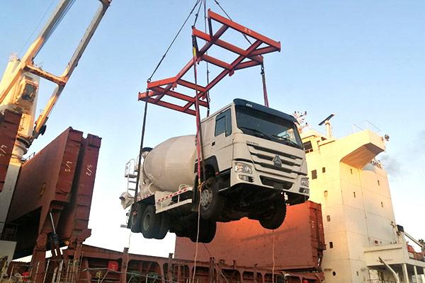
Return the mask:
[[[212,20],[222,24],[221,28],[219,28],[214,34],[212,34]],[[199,63],[200,61],[205,61],[210,64],[214,64],[217,67],[221,67],[223,71],[218,76],[216,76],[215,79],[212,79],[212,81],[210,81],[207,86],[200,86],[190,81],[185,81],[182,79],[183,76],[193,67],[195,62],[194,59],[191,59],[188,64],[186,64],[186,66],[183,67],[181,71],[179,71],[177,76],[171,77],[169,79],[148,82],[147,92],[139,93],[139,100],[147,100],[149,103],[171,108],[173,110],[185,112],[191,115],[196,115],[196,110],[190,109],[191,106],[196,102],[196,99],[198,98],[200,106],[208,107],[206,93],[208,93],[208,91],[210,91],[210,89],[215,86],[221,79],[227,76],[227,74],[232,76],[236,70],[260,65],[263,63],[263,57],[261,56],[262,54],[280,51],[280,42],[271,40],[264,35],[256,33],[254,30],[246,28],[243,25],[239,25],[234,21],[230,21],[229,19],[212,12],[210,9],[208,9],[208,25],[210,30],[209,35],[207,33],[203,33],[200,30],[197,30],[194,27],[192,29],[192,34],[194,37],[206,41],[205,45],[196,52],[196,62]],[[220,40],[220,36],[222,36],[228,28],[232,28],[237,32],[254,38],[254,43],[252,43],[251,46],[244,50],[240,47],[230,44],[229,42]],[[227,62],[223,62],[220,59],[208,56],[206,52],[212,45],[217,45],[224,48],[225,50],[236,53],[238,55],[237,59],[229,64]],[[260,48],[261,45],[265,46]],[[176,88],[178,85],[185,86],[186,88],[191,88],[197,91],[198,97],[188,96],[186,94],[174,91],[174,88]],[[178,98],[183,100],[183,102],[186,102],[186,104],[181,106],[166,102],[162,100],[164,96]]]

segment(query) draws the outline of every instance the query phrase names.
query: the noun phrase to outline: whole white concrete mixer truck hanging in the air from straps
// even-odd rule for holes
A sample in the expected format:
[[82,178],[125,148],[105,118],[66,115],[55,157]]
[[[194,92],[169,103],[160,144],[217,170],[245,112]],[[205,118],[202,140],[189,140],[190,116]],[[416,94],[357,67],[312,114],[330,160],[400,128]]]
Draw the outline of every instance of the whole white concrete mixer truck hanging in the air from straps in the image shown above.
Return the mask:
[[170,231],[203,243],[214,238],[216,221],[248,217],[277,229],[286,205],[305,202],[310,193],[296,122],[243,99],[206,117],[200,184],[194,135],[142,149],[142,166],[132,175],[140,172],[137,202],[128,192],[120,197],[124,208],[131,205],[128,228],[145,238]]

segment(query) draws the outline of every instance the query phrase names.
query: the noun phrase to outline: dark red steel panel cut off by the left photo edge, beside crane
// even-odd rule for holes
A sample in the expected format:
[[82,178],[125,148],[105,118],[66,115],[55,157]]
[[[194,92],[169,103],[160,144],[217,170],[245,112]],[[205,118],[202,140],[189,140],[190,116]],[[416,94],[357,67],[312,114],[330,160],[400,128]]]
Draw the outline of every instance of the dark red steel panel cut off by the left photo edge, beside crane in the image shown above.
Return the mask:
[[4,115],[0,115],[0,192],[3,190],[20,122],[21,114],[16,112],[5,110]]

